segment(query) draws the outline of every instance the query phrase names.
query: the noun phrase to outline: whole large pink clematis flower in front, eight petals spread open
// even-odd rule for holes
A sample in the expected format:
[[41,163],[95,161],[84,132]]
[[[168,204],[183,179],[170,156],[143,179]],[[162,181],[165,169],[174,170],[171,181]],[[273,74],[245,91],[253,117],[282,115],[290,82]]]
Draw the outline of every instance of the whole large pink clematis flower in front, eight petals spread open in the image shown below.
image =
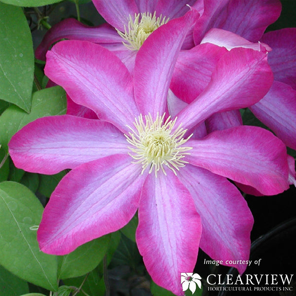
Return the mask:
[[42,174],[72,169],[45,207],[37,232],[43,252],[67,254],[118,230],[138,210],[136,241],[147,270],[176,295],[184,295],[180,275],[192,272],[199,247],[224,262],[249,258],[253,217],[227,178],[267,195],[282,192],[289,186],[286,147],[259,127],[200,140],[188,131],[217,111],[257,103],[273,76],[265,54],[235,48],[198,98],[167,116],[174,65],[194,22],[189,11],[151,34],[133,76],[98,44],[68,40],[48,51],[46,75],[100,119],[40,118],[9,143],[17,167]]

